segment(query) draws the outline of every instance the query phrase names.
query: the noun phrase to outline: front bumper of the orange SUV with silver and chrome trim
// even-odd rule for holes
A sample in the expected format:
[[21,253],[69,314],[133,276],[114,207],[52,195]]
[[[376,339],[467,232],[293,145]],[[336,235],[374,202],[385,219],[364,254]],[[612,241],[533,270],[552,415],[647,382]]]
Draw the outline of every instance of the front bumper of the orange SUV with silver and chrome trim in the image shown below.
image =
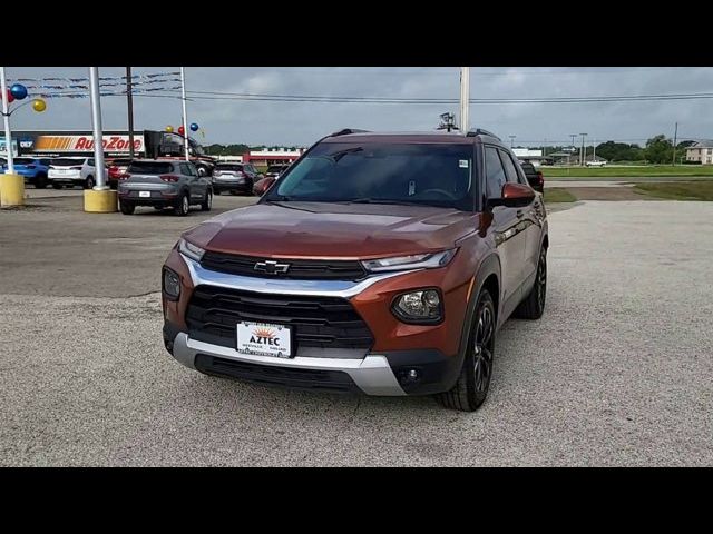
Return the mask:
[[[438,286],[437,277],[442,273],[384,273],[361,281],[266,279],[208,270],[176,250],[166,266],[179,274],[182,297],[169,300],[164,296],[164,343],[174,358],[189,368],[289,387],[402,396],[449,390],[462,367],[458,340],[462,322],[406,325],[393,317],[389,307],[393,296],[404,289]],[[203,329],[193,332],[186,322],[194,288],[206,286],[248,293],[251,298],[264,294],[267,299],[274,295],[297,300],[296,297],[316,296],[348,299],[369,325],[374,343],[370,348],[349,349],[318,349],[297,343],[296,355],[290,359],[238,353],[229,338],[226,343],[224,336],[218,338]],[[447,309],[460,315],[458,305],[465,305],[463,291],[445,294],[451,298]]]

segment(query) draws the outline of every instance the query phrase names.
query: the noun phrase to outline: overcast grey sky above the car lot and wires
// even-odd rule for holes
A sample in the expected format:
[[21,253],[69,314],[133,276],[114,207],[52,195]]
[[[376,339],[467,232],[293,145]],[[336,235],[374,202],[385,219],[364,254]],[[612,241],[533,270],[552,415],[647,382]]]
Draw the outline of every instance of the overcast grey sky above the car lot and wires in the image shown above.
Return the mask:
[[[87,68],[8,67],[8,78],[88,77]],[[134,73],[177,71],[178,67],[134,68]],[[124,68],[101,68],[100,76],[121,76]],[[29,82],[28,82],[29,85]],[[175,83],[169,83],[175,86]],[[457,67],[265,67],[186,68],[189,91],[339,97],[446,98],[459,97]],[[592,97],[667,93],[713,93],[713,68],[471,68],[471,98]],[[189,95],[191,96],[191,95]],[[203,95],[207,97],[208,95]],[[178,127],[180,100],[135,99],[136,129]],[[89,99],[52,98],[43,113],[29,108],[12,117],[17,129],[90,129]],[[515,145],[547,140],[569,142],[570,134],[587,132],[588,140],[645,142],[657,134],[680,139],[713,138],[712,99],[586,102],[473,103],[471,126]],[[126,98],[101,99],[105,129],[125,129]],[[204,144],[309,145],[334,130],[432,130],[439,115],[457,103],[332,103],[195,99],[188,102],[189,121],[205,130]]]

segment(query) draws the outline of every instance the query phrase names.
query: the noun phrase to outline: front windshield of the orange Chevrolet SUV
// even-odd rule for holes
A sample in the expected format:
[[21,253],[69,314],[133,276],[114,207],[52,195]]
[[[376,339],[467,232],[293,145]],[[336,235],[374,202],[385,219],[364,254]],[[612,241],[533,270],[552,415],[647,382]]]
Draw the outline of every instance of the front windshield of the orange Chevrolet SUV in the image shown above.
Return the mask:
[[412,204],[472,210],[472,146],[323,142],[266,201]]

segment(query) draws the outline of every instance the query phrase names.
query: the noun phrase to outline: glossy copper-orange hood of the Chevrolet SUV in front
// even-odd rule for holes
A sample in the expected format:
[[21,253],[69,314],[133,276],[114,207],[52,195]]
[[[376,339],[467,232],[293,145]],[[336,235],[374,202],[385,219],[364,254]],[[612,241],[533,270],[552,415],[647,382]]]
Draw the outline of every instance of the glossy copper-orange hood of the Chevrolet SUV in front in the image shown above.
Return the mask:
[[477,227],[477,215],[448,208],[289,202],[228,211],[184,237],[228,254],[363,259],[452,248]]

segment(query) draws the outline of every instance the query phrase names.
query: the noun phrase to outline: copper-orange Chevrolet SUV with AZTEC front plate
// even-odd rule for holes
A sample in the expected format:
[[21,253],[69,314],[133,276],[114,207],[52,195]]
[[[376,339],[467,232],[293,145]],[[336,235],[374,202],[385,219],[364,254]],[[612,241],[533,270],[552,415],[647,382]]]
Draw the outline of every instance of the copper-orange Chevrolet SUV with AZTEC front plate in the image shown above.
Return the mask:
[[473,411],[498,328],[543,314],[547,247],[541,196],[495,135],[342,130],[180,237],[166,349],[208,375]]

